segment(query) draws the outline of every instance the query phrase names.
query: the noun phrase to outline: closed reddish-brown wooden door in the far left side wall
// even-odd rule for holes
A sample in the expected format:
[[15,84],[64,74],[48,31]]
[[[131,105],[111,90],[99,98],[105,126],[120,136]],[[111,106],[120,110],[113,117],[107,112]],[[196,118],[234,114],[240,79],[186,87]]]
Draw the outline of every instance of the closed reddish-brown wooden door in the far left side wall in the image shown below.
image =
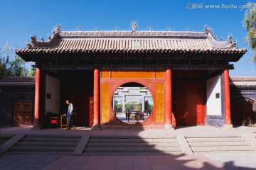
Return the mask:
[[14,126],[32,125],[33,103],[31,101],[14,102]]

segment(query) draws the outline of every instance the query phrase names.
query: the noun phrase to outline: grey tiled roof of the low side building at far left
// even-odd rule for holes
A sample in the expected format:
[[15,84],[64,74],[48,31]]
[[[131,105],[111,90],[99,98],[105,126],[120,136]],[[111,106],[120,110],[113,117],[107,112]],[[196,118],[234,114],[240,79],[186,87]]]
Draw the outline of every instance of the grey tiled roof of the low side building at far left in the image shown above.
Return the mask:
[[35,77],[4,77],[0,81],[0,87],[33,87]]

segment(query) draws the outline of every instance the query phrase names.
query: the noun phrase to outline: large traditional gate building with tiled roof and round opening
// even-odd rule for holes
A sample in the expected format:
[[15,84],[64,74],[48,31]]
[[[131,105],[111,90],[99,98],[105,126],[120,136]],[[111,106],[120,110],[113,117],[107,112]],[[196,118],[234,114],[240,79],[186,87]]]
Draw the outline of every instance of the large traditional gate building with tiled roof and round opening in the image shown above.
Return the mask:
[[[48,42],[31,44],[16,54],[36,62],[33,128],[46,112],[65,113],[65,99],[75,105],[78,125],[93,128],[171,128],[173,125],[232,127],[229,69],[245,49],[212,30],[64,31],[53,29]],[[127,124],[112,108],[112,96],[124,84],[149,89],[154,108],[143,123]],[[90,101],[93,98],[93,101]],[[91,106],[90,104],[93,104]],[[90,115],[92,114],[92,116]]]

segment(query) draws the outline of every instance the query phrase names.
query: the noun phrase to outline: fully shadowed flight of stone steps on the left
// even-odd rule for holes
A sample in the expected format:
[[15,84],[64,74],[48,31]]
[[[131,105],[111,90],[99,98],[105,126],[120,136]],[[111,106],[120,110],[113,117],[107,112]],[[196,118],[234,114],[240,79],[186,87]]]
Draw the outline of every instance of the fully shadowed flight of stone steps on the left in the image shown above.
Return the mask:
[[70,155],[80,142],[81,135],[25,135],[6,154]]

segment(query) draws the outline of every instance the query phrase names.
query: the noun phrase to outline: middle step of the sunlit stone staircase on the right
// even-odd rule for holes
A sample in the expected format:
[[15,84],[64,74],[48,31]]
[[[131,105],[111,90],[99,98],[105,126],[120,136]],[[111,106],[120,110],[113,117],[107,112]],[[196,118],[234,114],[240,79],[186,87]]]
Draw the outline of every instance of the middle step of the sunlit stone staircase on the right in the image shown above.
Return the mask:
[[188,142],[191,147],[250,146],[249,142]]

